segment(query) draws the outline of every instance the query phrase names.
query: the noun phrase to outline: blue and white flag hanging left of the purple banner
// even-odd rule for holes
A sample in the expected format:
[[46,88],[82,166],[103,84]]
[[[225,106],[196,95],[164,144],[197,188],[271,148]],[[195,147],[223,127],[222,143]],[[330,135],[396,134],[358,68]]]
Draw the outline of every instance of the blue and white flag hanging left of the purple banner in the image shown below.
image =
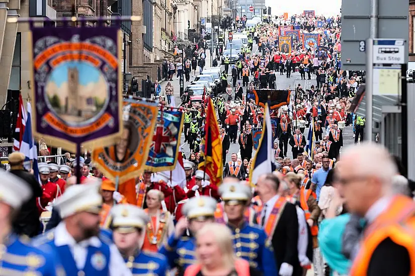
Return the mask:
[[30,163],[32,164],[33,174],[40,183],[39,168],[37,161],[37,147],[32,133],[32,106],[30,102],[27,103],[26,127],[23,134],[22,144],[20,145],[20,152],[26,156],[25,167],[30,170]]

